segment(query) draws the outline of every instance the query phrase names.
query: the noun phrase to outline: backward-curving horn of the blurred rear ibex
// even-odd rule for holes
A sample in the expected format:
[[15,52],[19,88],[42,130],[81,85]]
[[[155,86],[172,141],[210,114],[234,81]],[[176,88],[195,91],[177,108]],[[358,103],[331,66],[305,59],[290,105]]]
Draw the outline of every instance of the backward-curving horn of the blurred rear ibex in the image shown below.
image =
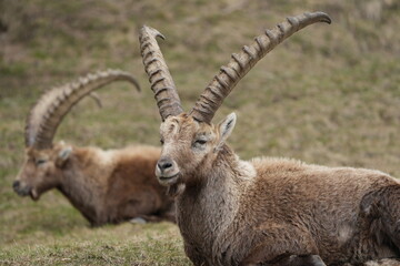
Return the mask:
[[79,78],[76,82],[54,88],[44,93],[33,105],[27,117],[26,146],[49,149],[63,116],[82,98],[113,81],[128,81],[138,91],[140,86],[133,75],[120,70],[99,71]]

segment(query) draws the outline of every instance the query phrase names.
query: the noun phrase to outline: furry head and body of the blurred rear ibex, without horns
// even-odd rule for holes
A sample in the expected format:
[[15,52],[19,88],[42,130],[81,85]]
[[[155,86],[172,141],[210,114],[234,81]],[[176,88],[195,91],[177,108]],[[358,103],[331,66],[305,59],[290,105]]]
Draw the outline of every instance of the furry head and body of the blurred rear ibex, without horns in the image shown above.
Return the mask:
[[[68,149],[68,157],[61,157]],[[58,188],[94,226],[134,217],[173,222],[172,198],[154,178],[159,156],[160,149],[144,145],[112,151],[63,143],[49,150],[30,147],[14,190],[39,200]],[[38,165],[38,160],[46,162]]]

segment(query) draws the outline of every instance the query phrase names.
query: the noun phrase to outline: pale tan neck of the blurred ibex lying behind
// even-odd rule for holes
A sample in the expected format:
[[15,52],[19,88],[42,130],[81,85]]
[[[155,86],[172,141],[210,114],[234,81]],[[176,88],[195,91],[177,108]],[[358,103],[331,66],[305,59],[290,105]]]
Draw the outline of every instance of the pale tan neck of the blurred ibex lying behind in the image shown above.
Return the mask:
[[99,223],[99,216],[104,203],[106,182],[100,176],[108,166],[99,158],[100,150],[92,147],[73,147],[69,162],[62,170],[60,191],[93,225]]

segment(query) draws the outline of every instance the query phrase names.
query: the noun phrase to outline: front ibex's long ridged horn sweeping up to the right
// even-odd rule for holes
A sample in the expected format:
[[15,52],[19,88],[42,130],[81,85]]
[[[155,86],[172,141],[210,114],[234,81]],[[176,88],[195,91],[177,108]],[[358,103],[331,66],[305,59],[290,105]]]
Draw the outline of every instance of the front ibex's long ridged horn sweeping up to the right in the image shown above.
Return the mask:
[[256,41],[249,47],[244,45],[240,53],[232,53],[228,65],[221,66],[220,72],[200,95],[190,114],[198,121],[210,123],[223,99],[260,59],[294,32],[317,22],[331,23],[331,19],[323,12],[288,18],[274,29],[256,37]]

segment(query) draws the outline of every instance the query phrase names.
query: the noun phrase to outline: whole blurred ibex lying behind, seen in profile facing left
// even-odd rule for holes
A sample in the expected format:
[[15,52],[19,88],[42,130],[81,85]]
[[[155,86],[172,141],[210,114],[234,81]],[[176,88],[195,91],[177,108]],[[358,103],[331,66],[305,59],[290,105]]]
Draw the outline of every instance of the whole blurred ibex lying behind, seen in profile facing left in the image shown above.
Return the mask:
[[108,70],[44,93],[32,108],[26,127],[26,161],[13,183],[14,191],[39,200],[58,188],[93,226],[136,217],[174,221],[173,203],[158,184],[154,166],[160,149],[131,146],[102,151],[52,140],[62,117],[81,99],[113,81],[134,78]]

